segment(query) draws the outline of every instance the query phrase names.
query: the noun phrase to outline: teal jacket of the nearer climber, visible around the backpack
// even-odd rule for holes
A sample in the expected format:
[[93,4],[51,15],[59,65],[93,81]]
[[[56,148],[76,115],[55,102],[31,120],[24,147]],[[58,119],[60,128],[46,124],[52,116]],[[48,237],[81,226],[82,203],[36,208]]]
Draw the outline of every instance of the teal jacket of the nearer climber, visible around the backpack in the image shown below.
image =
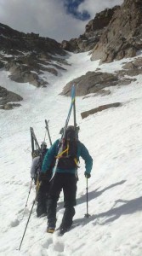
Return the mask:
[[[59,143],[60,140],[57,140],[54,142],[54,144],[51,146],[51,148],[48,149],[47,154],[45,154],[44,160],[43,160],[43,166],[42,166],[42,172],[47,172],[50,169],[50,166],[52,165],[54,161],[54,157],[58,154],[59,151]],[[77,160],[79,160],[79,157],[82,157],[82,159],[85,161],[85,171],[90,173],[92,166],[93,166],[93,159],[88,153],[88,149],[79,141],[77,141]],[[56,172],[68,172],[68,173],[76,173],[77,169],[70,169],[70,170],[63,170],[60,168],[57,168]]]

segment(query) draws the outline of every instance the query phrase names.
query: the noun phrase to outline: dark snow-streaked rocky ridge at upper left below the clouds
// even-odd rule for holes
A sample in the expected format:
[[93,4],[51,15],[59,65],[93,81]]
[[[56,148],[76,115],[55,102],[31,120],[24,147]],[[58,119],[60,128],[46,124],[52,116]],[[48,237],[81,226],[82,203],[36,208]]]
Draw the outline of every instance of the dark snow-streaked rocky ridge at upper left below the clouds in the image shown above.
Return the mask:
[[54,39],[42,38],[33,32],[17,32],[0,24],[0,68],[10,72],[9,78],[19,83],[46,86],[42,74],[57,76],[65,61],[65,50]]

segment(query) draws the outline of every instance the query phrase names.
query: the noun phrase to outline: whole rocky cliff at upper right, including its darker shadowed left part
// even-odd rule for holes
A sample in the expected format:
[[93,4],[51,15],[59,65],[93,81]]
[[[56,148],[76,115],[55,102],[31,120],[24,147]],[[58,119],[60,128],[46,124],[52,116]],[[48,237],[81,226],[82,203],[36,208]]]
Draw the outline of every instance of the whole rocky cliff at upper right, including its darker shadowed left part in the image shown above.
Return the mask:
[[142,1],[124,0],[122,6],[105,9],[90,20],[79,38],[63,41],[62,49],[92,50],[91,60],[111,62],[137,55],[142,48]]

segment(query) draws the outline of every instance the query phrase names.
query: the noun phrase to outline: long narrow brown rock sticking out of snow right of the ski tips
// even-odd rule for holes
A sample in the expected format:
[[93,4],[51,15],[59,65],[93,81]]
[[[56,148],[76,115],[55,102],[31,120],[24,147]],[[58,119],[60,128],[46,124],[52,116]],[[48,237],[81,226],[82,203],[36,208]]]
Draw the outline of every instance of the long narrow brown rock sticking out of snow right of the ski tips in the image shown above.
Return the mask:
[[117,108],[117,107],[120,107],[120,106],[122,106],[122,103],[120,103],[120,102],[115,102],[115,103],[111,103],[111,104],[102,105],[102,106],[99,106],[98,108],[93,108],[91,110],[82,112],[81,116],[82,116],[82,119],[85,119],[90,114],[98,113],[98,112],[103,111],[103,110],[108,109],[108,108]]

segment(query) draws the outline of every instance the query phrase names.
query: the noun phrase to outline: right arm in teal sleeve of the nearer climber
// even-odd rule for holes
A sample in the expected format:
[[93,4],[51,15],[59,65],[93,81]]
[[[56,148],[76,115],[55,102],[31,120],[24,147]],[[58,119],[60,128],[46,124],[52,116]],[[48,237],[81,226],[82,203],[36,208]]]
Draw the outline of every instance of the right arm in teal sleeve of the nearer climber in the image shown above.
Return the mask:
[[84,144],[79,142],[79,146],[81,147],[80,155],[82,159],[85,161],[85,172],[90,174],[93,166],[93,159],[91,155],[88,153],[88,149],[84,146]]

